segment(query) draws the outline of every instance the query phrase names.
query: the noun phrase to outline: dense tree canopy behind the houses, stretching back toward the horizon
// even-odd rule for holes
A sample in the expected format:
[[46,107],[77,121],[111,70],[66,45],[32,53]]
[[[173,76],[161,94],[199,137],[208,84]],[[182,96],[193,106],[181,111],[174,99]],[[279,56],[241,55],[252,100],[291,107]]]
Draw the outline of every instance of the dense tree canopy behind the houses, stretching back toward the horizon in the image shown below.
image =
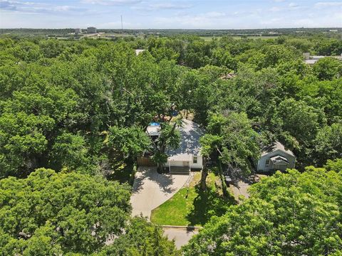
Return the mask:
[[[136,55],[136,48],[145,51]],[[41,167],[88,174],[108,173],[108,166],[121,170],[144,151],[147,125],[175,110],[185,110],[204,129],[210,113],[244,112],[255,132],[292,149],[301,168],[321,165],[336,157],[323,154],[323,147],[312,149],[323,143],[328,127],[341,124],[341,61],[322,58],[309,66],[302,53],[337,55],[339,49],[336,39],[318,36],[3,36],[0,176],[25,177]],[[325,141],[329,151],[338,151]],[[116,164],[109,163],[113,155]]]

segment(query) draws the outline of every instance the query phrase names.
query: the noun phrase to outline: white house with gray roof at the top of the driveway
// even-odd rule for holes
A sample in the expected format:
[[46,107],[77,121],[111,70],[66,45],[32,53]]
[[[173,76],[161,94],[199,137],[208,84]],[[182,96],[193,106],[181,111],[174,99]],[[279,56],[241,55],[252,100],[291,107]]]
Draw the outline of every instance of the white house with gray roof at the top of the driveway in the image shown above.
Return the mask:
[[[182,119],[182,126],[177,128],[180,131],[181,142],[177,149],[167,149],[168,155],[165,169],[170,173],[188,173],[191,170],[202,169],[203,160],[200,152],[199,138],[202,137],[202,129],[199,124],[187,119]],[[147,133],[155,142],[160,135],[160,124],[151,123],[147,127]],[[147,161],[139,160],[142,165],[150,165]],[[138,161],[138,162],[139,162]]]

